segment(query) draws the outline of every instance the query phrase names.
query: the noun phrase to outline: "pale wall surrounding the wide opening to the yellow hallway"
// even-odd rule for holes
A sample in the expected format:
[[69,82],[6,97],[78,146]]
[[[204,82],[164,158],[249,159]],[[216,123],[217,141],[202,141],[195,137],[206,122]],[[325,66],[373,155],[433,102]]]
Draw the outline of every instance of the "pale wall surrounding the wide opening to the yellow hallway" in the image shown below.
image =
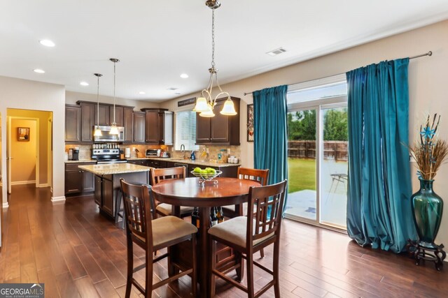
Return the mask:
[[[64,199],[64,86],[0,76],[0,113],[6,115],[8,108],[52,112],[52,200]],[[2,121],[1,140],[6,140],[6,117]],[[6,151],[6,142],[1,143],[1,151]],[[3,181],[6,181],[5,154],[1,156],[1,161]],[[2,194],[3,204],[6,205],[6,187],[3,187]]]

